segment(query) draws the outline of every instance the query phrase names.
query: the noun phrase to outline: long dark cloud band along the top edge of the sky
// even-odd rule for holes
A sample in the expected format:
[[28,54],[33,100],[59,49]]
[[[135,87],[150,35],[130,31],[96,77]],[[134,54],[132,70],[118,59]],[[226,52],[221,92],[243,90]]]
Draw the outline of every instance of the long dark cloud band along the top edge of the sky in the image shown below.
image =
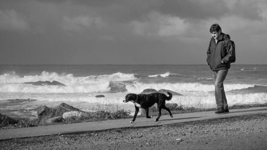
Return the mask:
[[229,8],[225,1],[193,0],[40,0],[40,2],[83,5],[96,9],[103,17],[120,22],[142,20],[152,11],[184,19],[220,19],[233,14],[251,20],[262,19],[256,3],[244,4],[242,1],[237,1],[233,8]]

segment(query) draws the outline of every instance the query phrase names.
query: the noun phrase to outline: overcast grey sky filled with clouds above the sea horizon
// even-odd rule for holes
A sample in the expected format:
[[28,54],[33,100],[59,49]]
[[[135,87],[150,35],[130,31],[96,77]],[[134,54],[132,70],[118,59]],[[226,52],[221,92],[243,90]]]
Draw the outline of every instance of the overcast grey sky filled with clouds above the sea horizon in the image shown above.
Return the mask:
[[0,0],[0,64],[206,64],[214,23],[267,64],[267,0]]

